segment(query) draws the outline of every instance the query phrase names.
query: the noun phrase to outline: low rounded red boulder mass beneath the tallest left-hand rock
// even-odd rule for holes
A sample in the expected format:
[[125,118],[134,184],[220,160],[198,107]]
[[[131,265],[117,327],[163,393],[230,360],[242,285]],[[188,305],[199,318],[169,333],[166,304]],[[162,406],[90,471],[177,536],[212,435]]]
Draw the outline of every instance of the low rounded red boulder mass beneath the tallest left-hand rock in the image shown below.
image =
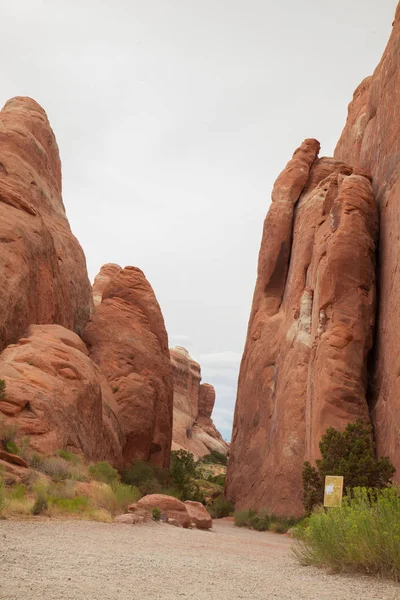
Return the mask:
[[[32,325],[0,355],[0,417],[41,454],[67,448],[122,465],[117,406],[82,340],[60,325]],[[3,458],[3,457],[2,457]]]

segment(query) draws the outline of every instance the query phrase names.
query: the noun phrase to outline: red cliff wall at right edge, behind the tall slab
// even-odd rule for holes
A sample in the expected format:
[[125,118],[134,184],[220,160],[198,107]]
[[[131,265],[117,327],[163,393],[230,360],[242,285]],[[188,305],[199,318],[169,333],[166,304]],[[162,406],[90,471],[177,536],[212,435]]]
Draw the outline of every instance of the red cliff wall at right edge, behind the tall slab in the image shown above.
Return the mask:
[[382,59],[354,92],[335,156],[368,169],[380,208],[378,319],[369,404],[380,455],[400,482],[400,5]]

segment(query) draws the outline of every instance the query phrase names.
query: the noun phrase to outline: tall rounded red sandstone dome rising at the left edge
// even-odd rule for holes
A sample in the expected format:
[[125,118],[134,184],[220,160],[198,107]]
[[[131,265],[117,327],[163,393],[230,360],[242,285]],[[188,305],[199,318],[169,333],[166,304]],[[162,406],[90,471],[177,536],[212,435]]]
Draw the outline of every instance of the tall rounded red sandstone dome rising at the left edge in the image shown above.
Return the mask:
[[58,147],[44,110],[13,98],[0,112],[0,350],[33,323],[81,333],[91,289],[61,198]]

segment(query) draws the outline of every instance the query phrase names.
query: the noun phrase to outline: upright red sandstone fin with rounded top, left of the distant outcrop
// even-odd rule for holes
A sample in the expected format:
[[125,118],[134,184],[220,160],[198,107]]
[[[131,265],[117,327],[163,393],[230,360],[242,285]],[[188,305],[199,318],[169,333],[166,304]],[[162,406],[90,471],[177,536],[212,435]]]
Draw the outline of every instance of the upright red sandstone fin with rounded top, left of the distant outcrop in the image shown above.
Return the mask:
[[167,467],[173,384],[164,319],[140,269],[113,269],[83,339],[114,392],[124,463],[140,459]]

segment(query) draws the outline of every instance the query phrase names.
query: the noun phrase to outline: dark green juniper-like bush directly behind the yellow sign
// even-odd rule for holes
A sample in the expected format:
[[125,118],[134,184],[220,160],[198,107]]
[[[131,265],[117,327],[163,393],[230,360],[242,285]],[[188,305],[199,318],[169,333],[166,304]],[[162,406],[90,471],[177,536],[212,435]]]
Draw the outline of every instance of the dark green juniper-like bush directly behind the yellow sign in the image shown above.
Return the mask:
[[303,465],[303,505],[306,514],[321,504],[326,475],[342,475],[344,489],[387,487],[395,473],[389,458],[377,459],[372,427],[361,419],[349,423],[343,432],[329,427],[319,444],[321,459],[317,467]]

